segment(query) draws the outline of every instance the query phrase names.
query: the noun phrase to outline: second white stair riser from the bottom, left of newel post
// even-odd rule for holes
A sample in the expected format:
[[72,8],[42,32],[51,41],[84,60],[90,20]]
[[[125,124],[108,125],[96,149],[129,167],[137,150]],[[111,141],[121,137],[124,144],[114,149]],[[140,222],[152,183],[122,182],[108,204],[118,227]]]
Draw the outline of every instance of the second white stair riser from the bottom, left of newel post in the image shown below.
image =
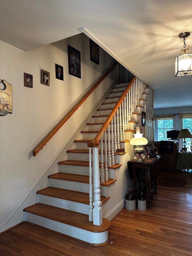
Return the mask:
[[88,204],[69,201],[69,200],[65,200],[57,197],[51,197],[51,196],[39,194],[39,202],[52,205],[55,207],[59,207],[62,209],[67,209],[73,212],[80,212],[84,214],[88,214],[89,212]]

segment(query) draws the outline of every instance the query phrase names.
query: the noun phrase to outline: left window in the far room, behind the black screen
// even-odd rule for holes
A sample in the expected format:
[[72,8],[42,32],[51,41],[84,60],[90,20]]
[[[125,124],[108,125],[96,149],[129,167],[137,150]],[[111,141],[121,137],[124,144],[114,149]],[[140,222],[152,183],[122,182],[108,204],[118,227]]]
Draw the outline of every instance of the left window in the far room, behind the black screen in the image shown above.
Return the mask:
[[157,136],[159,140],[167,140],[167,131],[173,130],[173,119],[157,120]]

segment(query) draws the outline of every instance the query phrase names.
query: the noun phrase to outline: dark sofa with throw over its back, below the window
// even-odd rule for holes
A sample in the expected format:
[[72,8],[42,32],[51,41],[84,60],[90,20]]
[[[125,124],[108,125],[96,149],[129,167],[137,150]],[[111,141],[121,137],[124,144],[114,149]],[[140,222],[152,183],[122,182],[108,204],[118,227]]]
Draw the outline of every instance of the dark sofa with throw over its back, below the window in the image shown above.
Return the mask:
[[154,146],[158,150],[160,158],[160,170],[176,171],[177,158],[179,154],[178,142],[170,140],[155,141]]

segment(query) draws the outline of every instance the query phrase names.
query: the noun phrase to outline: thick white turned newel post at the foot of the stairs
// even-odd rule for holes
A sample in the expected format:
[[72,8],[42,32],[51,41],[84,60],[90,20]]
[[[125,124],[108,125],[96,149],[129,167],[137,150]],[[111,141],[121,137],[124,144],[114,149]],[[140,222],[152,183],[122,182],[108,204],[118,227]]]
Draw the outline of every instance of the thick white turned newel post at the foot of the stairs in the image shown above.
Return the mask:
[[93,224],[100,226],[103,222],[102,207],[101,207],[101,190],[99,176],[99,148],[93,147]]

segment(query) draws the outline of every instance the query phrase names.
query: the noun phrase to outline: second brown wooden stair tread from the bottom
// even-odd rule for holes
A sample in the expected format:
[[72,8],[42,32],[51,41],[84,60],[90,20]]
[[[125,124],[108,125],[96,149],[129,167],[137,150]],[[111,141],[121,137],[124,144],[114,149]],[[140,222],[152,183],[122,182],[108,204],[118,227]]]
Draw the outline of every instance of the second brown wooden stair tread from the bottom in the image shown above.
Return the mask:
[[[37,194],[61,198],[78,203],[85,203],[89,205],[89,194],[85,192],[73,191],[63,188],[47,187],[37,191]],[[102,203],[106,202],[108,199],[110,199],[110,197],[101,196]]]

